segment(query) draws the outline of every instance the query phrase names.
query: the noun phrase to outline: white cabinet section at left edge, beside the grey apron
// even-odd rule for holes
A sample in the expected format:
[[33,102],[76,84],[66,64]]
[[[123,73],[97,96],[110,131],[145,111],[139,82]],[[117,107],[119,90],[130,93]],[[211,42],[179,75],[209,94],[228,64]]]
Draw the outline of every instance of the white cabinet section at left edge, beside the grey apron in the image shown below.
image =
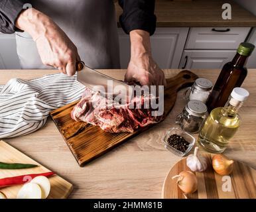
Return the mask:
[[0,69],[20,69],[15,34],[0,33]]

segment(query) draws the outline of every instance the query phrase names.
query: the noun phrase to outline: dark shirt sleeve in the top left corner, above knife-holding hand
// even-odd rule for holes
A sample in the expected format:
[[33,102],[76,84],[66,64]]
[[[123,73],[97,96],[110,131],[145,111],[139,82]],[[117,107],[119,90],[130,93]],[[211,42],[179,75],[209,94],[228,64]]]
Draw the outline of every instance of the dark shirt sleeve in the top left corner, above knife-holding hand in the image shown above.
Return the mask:
[[29,3],[26,0],[0,0],[0,32],[12,34],[18,28],[15,21],[23,10],[23,5]]

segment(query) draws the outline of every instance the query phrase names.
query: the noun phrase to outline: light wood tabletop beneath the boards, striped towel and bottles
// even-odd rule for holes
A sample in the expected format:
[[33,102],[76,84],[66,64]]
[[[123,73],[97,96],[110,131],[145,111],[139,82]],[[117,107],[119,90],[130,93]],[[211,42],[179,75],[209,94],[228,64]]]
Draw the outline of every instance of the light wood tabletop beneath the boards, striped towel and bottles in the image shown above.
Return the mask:
[[[11,78],[32,79],[56,70],[0,70],[0,84]],[[125,70],[104,70],[123,79]],[[180,70],[164,70],[166,78]],[[220,70],[193,70],[200,77],[216,81]],[[225,154],[256,169],[256,70],[249,70],[243,87],[250,97],[241,108],[242,125],[231,139]],[[74,184],[72,198],[160,198],[168,170],[180,158],[164,148],[162,138],[174,126],[174,119],[184,107],[182,92],[166,120],[80,168],[51,119],[46,126],[27,136],[3,139],[40,164]]]

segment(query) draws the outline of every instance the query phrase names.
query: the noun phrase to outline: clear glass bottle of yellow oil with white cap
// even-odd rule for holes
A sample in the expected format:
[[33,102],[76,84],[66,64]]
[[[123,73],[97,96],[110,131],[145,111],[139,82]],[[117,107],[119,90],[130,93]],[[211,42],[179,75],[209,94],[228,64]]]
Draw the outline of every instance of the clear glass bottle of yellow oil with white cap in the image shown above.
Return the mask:
[[212,153],[224,152],[229,140],[241,125],[237,114],[249,92],[241,87],[235,87],[225,107],[214,109],[198,136],[198,145]]

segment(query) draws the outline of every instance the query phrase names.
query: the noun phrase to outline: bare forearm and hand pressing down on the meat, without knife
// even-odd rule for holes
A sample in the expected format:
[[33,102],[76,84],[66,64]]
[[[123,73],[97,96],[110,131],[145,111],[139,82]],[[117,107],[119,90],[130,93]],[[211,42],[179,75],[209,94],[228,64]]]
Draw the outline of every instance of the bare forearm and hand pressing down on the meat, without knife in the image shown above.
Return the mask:
[[139,81],[141,85],[166,85],[164,73],[151,56],[149,32],[133,30],[131,37],[131,60],[125,81]]

